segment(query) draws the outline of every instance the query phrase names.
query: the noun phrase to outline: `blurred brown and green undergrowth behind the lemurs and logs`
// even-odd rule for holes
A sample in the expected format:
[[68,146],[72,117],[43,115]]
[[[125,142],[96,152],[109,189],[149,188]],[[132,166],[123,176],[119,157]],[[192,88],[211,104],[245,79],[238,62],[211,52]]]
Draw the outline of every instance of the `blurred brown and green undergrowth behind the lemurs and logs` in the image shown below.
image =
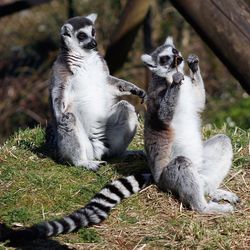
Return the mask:
[[[122,63],[117,64],[120,53],[111,53],[112,43],[123,32],[126,20],[123,10],[127,0],[40,0],[19,1],[29,5],[11,5],[15,2],[0,1],[0,143],[19,128],[46,125],[49,118],[48,79],[58,54],[60,26],[70,16],[91,12],[98,13],[98,48],[103,56],[109,51],[106,58],[112,74],[146,89],[149,76],[140,56],[162,44],[167,35],[172,35],[184,57],[194,53],[200,58],[207,91],[203,124],[250,127],[249,95],[170,1],[151,1],[150,12],[130,34],[132,39],[128,39],[129,45],[126,45],[126,58],[121,58]],[[27,8],[30,5],[34,6]],[[140,100],[130,98],[130,101],[143,115]]]

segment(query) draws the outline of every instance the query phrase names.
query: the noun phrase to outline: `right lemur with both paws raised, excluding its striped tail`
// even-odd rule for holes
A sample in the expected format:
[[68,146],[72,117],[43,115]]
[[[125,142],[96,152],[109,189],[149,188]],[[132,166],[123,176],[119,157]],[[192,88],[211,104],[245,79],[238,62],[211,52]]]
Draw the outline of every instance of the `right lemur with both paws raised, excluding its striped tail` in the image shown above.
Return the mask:
[[[199,112],[205,106],[205,90],[198,57],[188,57],[191,75],[184,76],[183,58],[168,37],[151,55],[142,55],[142,61],[152,71],[144,140],[155,182],[193,210],[232,212],[232,205],[215,202],[238,201],[234,193],[218,189],[230,169],[233,153],[226,135],[202,142]],[[212,201],[207,202],[205,194]]]

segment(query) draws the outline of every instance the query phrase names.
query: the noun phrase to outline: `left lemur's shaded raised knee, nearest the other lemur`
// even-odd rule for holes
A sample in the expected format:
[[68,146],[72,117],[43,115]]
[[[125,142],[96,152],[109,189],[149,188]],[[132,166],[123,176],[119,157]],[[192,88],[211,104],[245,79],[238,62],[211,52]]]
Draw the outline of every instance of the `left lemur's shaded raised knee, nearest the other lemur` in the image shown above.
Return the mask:
[[137,115],[133,105],[120,101],[112,107],[107,122],[107,156],[122,155],[132,141],[137,127]]

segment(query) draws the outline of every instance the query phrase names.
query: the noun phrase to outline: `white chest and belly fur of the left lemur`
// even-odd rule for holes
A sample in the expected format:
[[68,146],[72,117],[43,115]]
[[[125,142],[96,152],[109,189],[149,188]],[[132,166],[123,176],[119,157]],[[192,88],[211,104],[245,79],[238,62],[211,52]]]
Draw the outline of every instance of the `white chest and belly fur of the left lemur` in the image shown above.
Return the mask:
[[107,87],[108,73],[103,69],[99,56],[90,55],[79,65],[69,78],[69,88],[65,94],[68,103],[71,103],[70,109],[78,114],[88,131],[90,127],[95,127],[94,123],[104,121],[113,99]]

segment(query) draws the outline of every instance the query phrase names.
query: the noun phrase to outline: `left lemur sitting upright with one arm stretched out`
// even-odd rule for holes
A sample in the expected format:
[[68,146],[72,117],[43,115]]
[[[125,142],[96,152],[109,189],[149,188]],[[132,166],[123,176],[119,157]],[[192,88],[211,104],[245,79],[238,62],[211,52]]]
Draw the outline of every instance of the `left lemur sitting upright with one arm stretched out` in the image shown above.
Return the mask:
[[109,74],[96,50],[96,17],[74,17],[61,28],[61,51],[50,81],[53,119],[46,134],[61,159],[92,170],[104,156],[122,155],[135,135],[135,109],[117,97],[145,96],[134,84]]

